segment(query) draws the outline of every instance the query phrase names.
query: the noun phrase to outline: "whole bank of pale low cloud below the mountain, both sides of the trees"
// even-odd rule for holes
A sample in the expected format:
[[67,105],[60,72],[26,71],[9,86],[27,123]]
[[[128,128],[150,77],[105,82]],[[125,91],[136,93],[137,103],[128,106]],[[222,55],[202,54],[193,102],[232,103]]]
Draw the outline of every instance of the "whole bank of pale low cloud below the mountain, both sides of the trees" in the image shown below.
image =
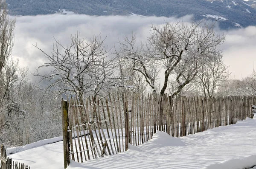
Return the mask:
[[[87,16],[87,15],[44,15],[17,17],[15,28],[15,45],[12,56],[18,58],[21,67],[29,67],[31,73],[44,63],[44,55],[33,45],[37,45],[46,53],[52,51],[54,38],[61,44],[70,44],[71,34],[81,33],[81,37],[90,38],[93,34],[107,37],[105,45],[112,48],[118,39],[122,40],[132,32],[137,38],[145,41],[152,24],[159,25],[176,18],[140,17],[140,16]],[[190,16],[182,20],[189,21]],[[219,31],[219,33],[223,33]],[[245,77],[256,65],[256,27],[251,26],[224,32],[226,41],[221,45],[224,63],[237,79]],[[256,66],[255,66],[256,68]]]

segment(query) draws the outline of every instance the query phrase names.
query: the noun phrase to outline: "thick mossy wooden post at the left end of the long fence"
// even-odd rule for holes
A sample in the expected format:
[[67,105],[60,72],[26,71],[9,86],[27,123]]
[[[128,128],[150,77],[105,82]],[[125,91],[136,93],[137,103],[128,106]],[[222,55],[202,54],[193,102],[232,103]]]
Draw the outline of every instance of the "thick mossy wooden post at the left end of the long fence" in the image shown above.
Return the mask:
[[64,169],[70,164],[70,132],[68,124],[67,101],[62,99],[62,131],[63,131],[63,152],[64,152]]

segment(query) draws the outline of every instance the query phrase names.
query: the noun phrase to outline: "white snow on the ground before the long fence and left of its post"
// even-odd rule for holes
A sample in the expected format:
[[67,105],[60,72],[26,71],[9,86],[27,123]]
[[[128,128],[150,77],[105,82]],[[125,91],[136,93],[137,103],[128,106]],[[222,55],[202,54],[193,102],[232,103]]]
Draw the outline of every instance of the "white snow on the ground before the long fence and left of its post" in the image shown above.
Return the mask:
[[[32,169],[63,169],[62,141],[10,155]],[[71,161],[69,169],[244,169],[256,165],[256,117],[230,126],[174,138],[157,132],[127,152],[85,163]]]

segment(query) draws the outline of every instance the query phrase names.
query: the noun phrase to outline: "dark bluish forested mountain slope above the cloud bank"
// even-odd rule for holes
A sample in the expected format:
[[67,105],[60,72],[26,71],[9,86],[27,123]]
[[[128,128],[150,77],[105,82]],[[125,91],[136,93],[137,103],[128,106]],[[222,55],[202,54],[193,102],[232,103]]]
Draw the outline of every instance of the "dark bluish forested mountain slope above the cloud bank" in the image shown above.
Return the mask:
[[[6,0],[12,15],[53,14],[59,9],[88,15],[128,15],[182,17],[194,14],[220,16],[222,28],[256,25],[255,0]],[[208,15],[207,15],[208,14]]]

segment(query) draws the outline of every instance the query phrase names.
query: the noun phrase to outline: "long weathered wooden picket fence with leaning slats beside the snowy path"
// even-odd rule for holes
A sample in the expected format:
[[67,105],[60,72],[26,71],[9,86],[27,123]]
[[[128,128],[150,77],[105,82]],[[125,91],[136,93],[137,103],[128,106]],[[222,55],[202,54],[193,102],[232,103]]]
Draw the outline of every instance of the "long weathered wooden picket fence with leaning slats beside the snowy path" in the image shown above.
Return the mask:
[[181,137],[253,117],[256,97],[177,97],[109,93],[62,100],[64,167],[140,145],[157,131]]

